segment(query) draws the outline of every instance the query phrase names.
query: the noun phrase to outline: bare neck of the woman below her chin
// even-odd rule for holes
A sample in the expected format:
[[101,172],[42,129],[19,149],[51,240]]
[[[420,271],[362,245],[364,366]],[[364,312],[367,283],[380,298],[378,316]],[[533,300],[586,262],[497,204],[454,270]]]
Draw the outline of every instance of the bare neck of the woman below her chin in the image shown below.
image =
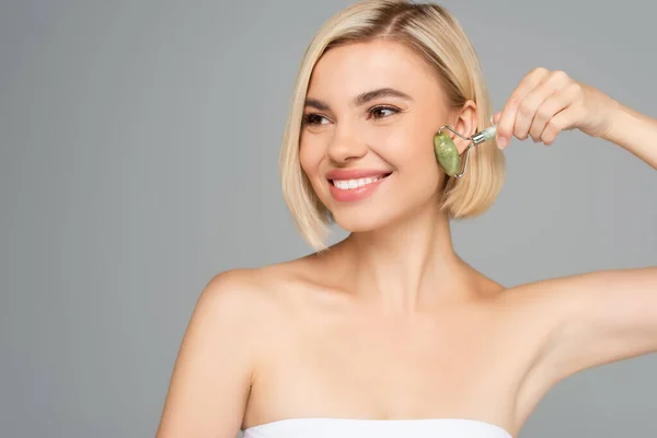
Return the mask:
[[449,219],[438,207],[351,233],[338,246],[348,287],[387,311],[413,312],[466,293],[469,267],[454,253]]

